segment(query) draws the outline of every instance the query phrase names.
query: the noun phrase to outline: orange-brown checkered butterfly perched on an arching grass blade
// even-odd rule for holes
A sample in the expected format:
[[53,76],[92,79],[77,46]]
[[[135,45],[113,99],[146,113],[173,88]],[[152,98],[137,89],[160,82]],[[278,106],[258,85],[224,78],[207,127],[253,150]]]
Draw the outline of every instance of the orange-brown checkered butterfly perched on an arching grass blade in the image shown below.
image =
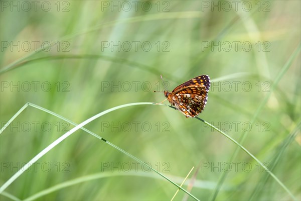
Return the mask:
[[164,90],[164,95],[186,118],[195,117],[207,104],[210,78],[200,75],[177,86],[172,92]]

